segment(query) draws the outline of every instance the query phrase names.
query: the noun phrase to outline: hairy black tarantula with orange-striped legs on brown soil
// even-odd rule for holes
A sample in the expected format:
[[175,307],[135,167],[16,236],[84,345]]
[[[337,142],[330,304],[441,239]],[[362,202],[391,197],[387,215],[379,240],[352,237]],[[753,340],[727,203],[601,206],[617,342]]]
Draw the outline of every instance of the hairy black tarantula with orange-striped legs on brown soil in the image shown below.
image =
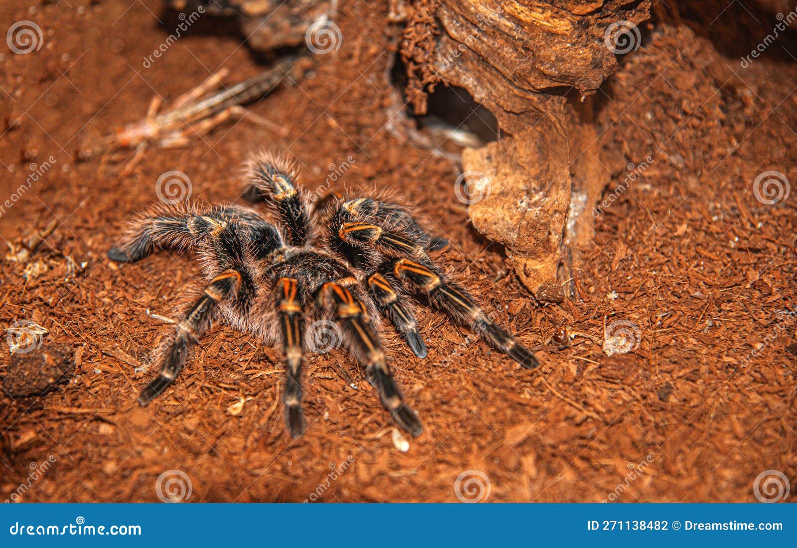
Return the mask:
[[234,329],[284,349],[285,420],[291,435],[300,436],[305,428],[300,372],[308,350],[303,326],[323,320],[338,326],[340,342],[364,369],[396,424],[418,436],[421,423],[405,403],[379,342],[381,312],[412,352],[426,357],[413,309],[398,289],[402,286],[426,294],[434,308],[474,329],[525,368],[539,365],[467,291],[446,278],[429,252],[448,242],[429,235],[404,207],[330,195],[311,210],[289,161],[263,153],[247,167],[255,191],[250,195],[269,204],[279,227],[236,205],[161,207],[139,219],[108,251],[114,261],[133,262],[155,246],[195,250],[209,280],[159,357],[160,374],[143,388],[141,405],[175,381],[190,347],[222,317]]

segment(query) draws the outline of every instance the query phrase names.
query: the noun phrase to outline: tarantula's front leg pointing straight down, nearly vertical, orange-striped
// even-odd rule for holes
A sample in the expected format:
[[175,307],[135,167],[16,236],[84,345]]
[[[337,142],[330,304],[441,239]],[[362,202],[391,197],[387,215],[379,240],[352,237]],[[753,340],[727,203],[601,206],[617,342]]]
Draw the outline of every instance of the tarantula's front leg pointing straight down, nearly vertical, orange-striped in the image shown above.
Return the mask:
[[307,424],[301,409],[302,325],[304,315],[297,296],[298,282],[294,278],[280,278],[274,288],[277,314],[280,321],[282,347],[285,350],[285,424],[293,438],[301,436]]

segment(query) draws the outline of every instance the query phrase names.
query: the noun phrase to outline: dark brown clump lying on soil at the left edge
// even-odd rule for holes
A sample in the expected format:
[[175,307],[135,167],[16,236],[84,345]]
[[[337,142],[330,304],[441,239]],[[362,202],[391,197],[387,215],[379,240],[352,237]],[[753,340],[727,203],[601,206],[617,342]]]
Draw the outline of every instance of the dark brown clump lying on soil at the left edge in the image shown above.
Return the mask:
[[11,354],[11,362],[2,376],[2,388],[12,397],[40,396],[75,371],[71,345],[49,345],[28,353]]

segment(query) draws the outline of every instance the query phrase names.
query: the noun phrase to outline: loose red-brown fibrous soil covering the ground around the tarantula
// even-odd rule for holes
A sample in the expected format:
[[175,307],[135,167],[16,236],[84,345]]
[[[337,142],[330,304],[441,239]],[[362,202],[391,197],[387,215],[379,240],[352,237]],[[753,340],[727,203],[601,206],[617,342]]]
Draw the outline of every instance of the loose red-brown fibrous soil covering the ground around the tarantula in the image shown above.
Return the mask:
[[[387,130],[395,52],[383,49],[383,8],[343,2],[340,50],[298,86],[250,107],[287,136],[226,124],[190,148],[147,149],[122,177],[118,164],[76,163],[81,140],[139,119],[153,95],[173,99],[222,66],[235,79],[261,66],[239,37],[205,29],[144,69],[143,57],[168,34],[156,19],[164,15],[159,2],[71,4],[0,6],[0,20],[30,19],[44,32],[38,51],[0,49],[0,199],[25,183],[29,164],[57,160],[0,216],[3,246],[57,223],[28,261],[0,262],[0,325],[35,321],[49,329],[47,344],[78,349],[71,383],[0,400],[0,499],[50,455],[54,463],[22,500],[155,502],[155,481],[171,469],[190,477],[191,501],[205,502],[303,501],[322,484],[324,501],[455,502],[455,480],[469,470],[489,478],[489,501],[599,502],[615,494],[622,502],[755,502],[760,472],[797,478],[789,349],[797,324],[783,315],[797,306],[797,195],[765,205],[753,194],[763,171],[797,181],[791,35],[770,46],[778,55],[743,69],[685,22],[653,22],[642,49],[622,58],[598,94],[614,171],[607,197],[626,164],[652,161],[599,215],[575,298],[543,306],[508,274],[503,250],[469,227],[451,164]],[[6,129],[8,120],[18,124]],[[171,316],[183,288],[201,285],[201,271],[186,255],[159,252],[117,266],[104,253],[132,215],[155,203],[164,171],[189,175],[195,198],[236,200],[239,166],[266,147],[289,150],[310,189],[351,156],[347,187],[393,187],[417,202],[424,221],[455,244],[450,271],[538,348],[541,368],[520,369],[423,309],[426,360],[389,325],[384,337],[426,427],[409,451],[395,448],[375,392],[337,350],[308,359],[310,426],[291,440],[281,352],[218,326],[175,387],[139,408],[135,396],[152,372],[136,368],[171,333],[147,311]],[[66,257],[88,262],[69,281]],[[46,270],[33,277],[31,264]],[[638,326],[640,343],[607,357],[604,326],[618,320]],[[559,350],[548,341],[563,324],[579,334]],[[4,348],[0,363],[7,362]],[[241,398],[242,412],[231,415]],[[326,487],[332,463],[345,471]],[[626,480],[630,463],[645,464]]]

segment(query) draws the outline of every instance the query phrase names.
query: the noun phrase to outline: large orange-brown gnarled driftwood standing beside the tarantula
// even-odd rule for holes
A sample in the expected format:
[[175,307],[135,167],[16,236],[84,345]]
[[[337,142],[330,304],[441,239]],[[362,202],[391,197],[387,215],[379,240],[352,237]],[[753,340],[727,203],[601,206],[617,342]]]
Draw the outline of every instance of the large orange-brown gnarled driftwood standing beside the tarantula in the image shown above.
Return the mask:
[[561,300],[608,178],[590,105],[573,103],[617,69],[615,51],[638,45],[650,0],[418,0],[407,11],[402,55],[416,112],[442,82],[467,89],[500,128],[497,141],[462,155],[463,172],[481,179],[470,185],[470,220],[506,246],[532,293]]

